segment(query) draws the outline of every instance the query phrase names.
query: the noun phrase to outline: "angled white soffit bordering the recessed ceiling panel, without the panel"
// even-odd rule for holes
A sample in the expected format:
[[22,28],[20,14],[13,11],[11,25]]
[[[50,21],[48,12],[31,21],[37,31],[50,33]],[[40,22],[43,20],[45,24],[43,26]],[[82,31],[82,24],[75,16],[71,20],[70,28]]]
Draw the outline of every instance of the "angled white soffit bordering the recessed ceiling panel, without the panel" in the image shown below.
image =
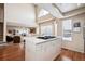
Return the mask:
[[75,9],[66,13],[62,13],[60,11],[60,9],[55,4],[55,3],[40,3],[37,4],[42,9],[47,10],[54,17],[58,17],[58,18],[66,18],[66,17],[70,17],[70,16],[74,16],[81,13],[85,12],[85,7],[84,8],[80,8],[80,9]]

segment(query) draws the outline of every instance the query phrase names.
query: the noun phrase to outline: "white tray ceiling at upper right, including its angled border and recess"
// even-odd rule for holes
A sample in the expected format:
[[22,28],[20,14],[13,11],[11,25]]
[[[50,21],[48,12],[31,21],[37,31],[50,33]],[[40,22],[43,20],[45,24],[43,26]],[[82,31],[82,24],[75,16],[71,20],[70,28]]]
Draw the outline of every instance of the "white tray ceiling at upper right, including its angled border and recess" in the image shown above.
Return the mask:
[[85,12],[85,3],[40,3],[38,7],[45,9],[53,16],[63,18]]

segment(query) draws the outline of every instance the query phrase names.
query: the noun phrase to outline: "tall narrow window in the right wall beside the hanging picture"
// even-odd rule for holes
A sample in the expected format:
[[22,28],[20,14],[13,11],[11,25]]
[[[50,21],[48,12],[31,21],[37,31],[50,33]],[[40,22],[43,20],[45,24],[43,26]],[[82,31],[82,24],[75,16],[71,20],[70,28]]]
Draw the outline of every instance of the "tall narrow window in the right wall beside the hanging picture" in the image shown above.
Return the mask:
[[72,20],[62,21],[62,39],[72,41]]

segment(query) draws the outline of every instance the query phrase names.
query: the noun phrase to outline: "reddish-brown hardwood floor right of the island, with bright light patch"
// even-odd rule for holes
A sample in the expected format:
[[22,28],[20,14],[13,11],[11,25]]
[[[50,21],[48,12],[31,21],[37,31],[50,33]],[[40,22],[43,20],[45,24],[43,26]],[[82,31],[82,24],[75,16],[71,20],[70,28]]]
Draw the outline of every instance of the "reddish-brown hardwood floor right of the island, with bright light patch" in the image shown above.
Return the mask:
[[62,49],[61,54],[55,61],[85,61],[85,53]]

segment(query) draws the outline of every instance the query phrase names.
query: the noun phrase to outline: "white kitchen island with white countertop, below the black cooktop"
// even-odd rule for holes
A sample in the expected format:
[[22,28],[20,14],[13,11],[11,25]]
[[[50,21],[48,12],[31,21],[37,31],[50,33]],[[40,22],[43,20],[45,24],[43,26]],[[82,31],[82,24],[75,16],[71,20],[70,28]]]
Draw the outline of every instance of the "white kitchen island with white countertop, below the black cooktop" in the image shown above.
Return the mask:
[[61,40],[59,38],[25,37],[25,40],[26,61],[53,61],[60,54]]

